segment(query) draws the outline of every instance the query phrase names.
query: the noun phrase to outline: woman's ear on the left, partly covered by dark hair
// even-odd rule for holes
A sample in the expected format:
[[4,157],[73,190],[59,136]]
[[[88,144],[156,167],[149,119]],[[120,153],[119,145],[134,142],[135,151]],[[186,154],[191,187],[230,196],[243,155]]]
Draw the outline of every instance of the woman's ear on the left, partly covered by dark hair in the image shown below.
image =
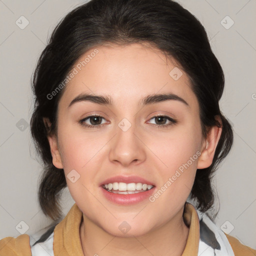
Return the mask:
[[47,138],[49,141],[49,145],[50,145],[50,152],[51,152],[51,156],[52,156],[52,164],[59,169],[63,169],[63,165],[62,165],[62,161],[61,161],[61,157],[60,157],[60,152],[58,149],[58,143],[57,143],[57,138],[55,135],[50,135],[49,130],[50,130],[50,126],[51,123],[49,121],[48,118],[43,117],[43,123],[45,125],[45,128],[48,132]]

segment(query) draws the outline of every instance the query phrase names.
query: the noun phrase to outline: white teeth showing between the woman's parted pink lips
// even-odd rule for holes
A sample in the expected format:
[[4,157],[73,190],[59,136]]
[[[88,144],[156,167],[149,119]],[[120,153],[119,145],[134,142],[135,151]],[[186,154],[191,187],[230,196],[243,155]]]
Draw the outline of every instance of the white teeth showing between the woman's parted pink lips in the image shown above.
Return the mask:
[[124,182],[113,182],[101,185],[103,189],[108,192],[115,194],[135,194],[148,191],[154,187],[152,184],[146,183],[124,183]]

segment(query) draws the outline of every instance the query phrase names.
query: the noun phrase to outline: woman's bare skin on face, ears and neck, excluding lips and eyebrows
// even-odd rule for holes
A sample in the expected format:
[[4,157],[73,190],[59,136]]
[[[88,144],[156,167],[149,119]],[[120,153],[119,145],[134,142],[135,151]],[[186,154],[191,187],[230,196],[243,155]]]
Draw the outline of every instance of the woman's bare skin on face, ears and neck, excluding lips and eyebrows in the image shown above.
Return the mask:
[[[182,218],[184,203],[196,169],[211,164],[220,137],[221,127],[213,126],[203,138],[199,104],[186,73],[182,70],[174,80],[169,72],[178,66],[175,61],[166,62],[159,50],[147,46],[97,47],[96,56],[66,85],[58,104],[57,136],[48,136],[53,164],[65,175],[72,169],[80,175],[76,182],[68,178],[66,182],[83,213],[79,232],[85,255],[181,255],[189,231]],[[81,92],[111,95],[114,104],[83,101],[68,107]],[[138,105],[148,94],[165,92],[178,95],[189,106],[177,100]],[[103,117],[98,121],[101,126],[79,123],[93,113]],[[158,127],[153,118],[157,114],[177,122]],[[125,132],[118,126],[123,118],[131,123]],[[84,122],[93,125],[89,118]],[[168,123],[168,119],[160,122]],[[160,189],[197,151],[200,156],[154,202],[120,206],[101,194],[99,185],[115,175],[138,175]],[[124,220],[131,226],[125,234],[118,229]]]

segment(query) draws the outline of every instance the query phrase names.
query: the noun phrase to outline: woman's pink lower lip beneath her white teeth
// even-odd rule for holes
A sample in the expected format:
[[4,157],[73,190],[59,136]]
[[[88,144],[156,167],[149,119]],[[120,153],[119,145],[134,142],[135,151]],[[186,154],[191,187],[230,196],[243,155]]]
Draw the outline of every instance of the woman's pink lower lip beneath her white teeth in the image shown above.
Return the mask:
[[100,186],[100,189],[101,189],[103,195],[109,201],[117,203],[117,204],[122,204],[122,205],[130,205],[130,204],[136,204],[145,199],[148,199],[149,196],[155,190],[155,186],[149,190],[144,191],[144,192],[139,192],[139,193],[134,193],[134,194],[116,194],[116,193],[108,192],[102,186]]

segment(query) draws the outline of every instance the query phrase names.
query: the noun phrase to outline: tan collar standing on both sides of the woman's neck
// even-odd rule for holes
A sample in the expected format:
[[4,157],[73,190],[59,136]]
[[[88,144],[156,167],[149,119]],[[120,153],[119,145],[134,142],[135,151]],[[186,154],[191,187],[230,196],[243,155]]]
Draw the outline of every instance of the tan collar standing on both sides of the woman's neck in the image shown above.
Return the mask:
[[[183,217],[189,225],[189,232],[185,249],[181,256],[194,256],[198,253],[199,245],[199,219],[194,206],[185,204]],[[53,252],[61,256],[83,256],[80,242],[79,227],[82,220],[82,212],[73,204],[67,215],[54,229]]]

